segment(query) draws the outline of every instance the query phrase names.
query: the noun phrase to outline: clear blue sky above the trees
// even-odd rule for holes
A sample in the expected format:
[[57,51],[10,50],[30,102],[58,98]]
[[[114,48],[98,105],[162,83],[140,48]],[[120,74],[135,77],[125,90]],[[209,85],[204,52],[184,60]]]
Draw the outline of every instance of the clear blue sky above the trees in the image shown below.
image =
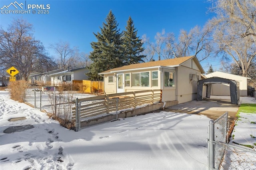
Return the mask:
[[[108,12],[116,16],[120,31],[125,29],[131,16],[140,38],[146,34],[154,40],[157,32],[165,29],[178,37],[181,29],[189,31],[194,26],[203,27],[214,14],[208,13],[211,4],[206,0],[16,0],[19,4],[50,5],[49,14],[0,14],[0,26],[7,28],[13,18],[22,16],[34,26],[34,37],[46,49],[59,40],[77,46],[80,52],[90,53],[91,42],[96,41],[94,33],[100,32]],[[1,0],[0,8],[15,0]],[[24,5],[24,6],[26,6]],[[10,6],[8,10],[15,10]],[[37,12],[37,10],[36,10]],[[212,62],[213,59],[208,59]],[[201,65],[208,70],[208,61]],[[216,63],[218,64],[218,63]],[[214,70],[220,65],[214,65]]]

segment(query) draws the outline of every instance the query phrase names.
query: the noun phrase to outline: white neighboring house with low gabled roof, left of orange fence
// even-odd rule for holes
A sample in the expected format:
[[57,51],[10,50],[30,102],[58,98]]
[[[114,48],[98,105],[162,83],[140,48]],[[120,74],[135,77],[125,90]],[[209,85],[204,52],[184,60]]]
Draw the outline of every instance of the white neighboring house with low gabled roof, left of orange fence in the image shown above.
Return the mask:
[[60,71],[58,73],[50,74],[51,84],[60,85],[63,82],[72,83],[73,80],[87,80],[88,76],[85,73],[88,72],[86,67],[80,69],[70,69],[65,71]]

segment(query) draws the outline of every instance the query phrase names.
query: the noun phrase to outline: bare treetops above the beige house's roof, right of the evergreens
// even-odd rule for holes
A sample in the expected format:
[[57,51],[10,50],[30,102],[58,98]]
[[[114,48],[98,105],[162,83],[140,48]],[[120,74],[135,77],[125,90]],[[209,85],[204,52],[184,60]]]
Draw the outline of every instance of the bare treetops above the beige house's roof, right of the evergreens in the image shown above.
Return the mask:
[[146,50],[164,59],[196,55],[202,61],[212,53],[211,28],[208,24],[204,28],[195,26],[190,32],[180,30],[178,40],[175,40],[173,33],[165,33],[164,30],[156,33],[155,42],[150,42],[146,36],[143,38],[148,45]]

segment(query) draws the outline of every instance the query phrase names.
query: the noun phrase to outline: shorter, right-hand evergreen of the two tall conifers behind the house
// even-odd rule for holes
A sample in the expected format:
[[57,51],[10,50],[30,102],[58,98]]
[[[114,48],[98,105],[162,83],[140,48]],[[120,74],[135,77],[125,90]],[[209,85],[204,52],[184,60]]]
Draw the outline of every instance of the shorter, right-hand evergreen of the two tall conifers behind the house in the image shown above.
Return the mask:
[[137,37],[137,31],[134,27],[132,18],[129,16],[126,30],[123,32],[123,49],[125,65],[144,62],[145,55],[141,55],[144,51],[143,42]]

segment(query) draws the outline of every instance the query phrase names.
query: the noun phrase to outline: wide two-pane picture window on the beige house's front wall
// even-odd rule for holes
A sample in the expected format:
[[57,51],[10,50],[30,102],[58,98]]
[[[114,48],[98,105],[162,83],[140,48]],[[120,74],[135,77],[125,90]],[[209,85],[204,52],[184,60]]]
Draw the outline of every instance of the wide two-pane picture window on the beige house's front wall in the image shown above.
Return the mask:
[[149,72],[132,73],[132,86],[149,87]]

